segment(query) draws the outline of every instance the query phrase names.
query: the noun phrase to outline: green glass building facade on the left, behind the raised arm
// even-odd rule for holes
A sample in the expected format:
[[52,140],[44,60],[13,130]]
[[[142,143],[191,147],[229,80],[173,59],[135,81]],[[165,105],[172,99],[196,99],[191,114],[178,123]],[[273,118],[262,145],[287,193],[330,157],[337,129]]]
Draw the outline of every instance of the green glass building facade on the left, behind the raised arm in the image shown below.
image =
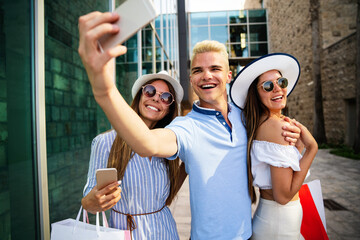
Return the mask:
[[[75,218],[90,146],[111,125],[78,55],[78,18],[117,1],[0,0],[0,239],[50,239],[50,224]],[[175,0],[124,43],[116,83],[130,102],[142,74],[179,78]]]

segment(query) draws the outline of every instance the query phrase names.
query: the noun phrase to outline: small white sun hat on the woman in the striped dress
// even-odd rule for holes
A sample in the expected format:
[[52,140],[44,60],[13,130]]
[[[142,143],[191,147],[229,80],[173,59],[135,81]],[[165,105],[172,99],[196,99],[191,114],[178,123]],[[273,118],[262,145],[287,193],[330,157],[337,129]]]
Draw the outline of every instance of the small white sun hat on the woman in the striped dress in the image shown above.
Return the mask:
[[150,80],[164,80],[173,86],[176,93],[176,102],[181,103],[181,100],[184,96],[184,90],[181,87],[180,83],[176,81],[173,77],[169,75],[167,71],[160,71],[158,73],[146,74],[139,77],[135,82],[131,90],[132,97],[134,98],[136,93],[141,89]]

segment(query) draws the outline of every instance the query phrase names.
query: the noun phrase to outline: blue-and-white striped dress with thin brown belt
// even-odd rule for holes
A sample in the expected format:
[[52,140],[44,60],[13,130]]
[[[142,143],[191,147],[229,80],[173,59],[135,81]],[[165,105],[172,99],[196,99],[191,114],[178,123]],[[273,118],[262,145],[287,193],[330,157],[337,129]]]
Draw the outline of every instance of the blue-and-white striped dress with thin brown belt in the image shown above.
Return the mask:
[[[114,130],[98,135],[91,144],[91,155],[86,196],[96,186],[95,171],[106,168],[111,145],[114,142]],[[127,165],[121,184],[121,199],[113,207],[121,213],[151,213],[161,209],[170,192],[170,180],[165,160],[162,158],[141,157],[135,154]],[[158,213],[134,216],[137,228],[132,231],[132,239],[170,240],[179,239],[175,220],[168,207]],[[110,211],[109,226],[127,229],[126,216]]]

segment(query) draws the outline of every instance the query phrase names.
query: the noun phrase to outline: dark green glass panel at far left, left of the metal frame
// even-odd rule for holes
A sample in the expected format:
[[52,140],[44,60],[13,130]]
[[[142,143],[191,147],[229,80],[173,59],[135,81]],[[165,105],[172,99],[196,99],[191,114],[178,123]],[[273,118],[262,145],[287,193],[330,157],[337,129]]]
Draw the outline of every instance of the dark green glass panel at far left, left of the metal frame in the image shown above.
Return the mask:
[[0,0],[0,239],[40,239],[32,1]]

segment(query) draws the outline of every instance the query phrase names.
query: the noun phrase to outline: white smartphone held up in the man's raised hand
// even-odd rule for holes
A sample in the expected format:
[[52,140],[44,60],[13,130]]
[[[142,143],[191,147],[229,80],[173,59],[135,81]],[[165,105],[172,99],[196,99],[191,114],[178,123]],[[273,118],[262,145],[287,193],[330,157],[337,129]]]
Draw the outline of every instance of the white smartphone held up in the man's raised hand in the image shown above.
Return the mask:
[[120,31],[115,35],[107,34],[99,39],[99,47],[102,51],[122,44],[159,15],[151,0],[120,0],[115,12],[120,16],[115,23]]

